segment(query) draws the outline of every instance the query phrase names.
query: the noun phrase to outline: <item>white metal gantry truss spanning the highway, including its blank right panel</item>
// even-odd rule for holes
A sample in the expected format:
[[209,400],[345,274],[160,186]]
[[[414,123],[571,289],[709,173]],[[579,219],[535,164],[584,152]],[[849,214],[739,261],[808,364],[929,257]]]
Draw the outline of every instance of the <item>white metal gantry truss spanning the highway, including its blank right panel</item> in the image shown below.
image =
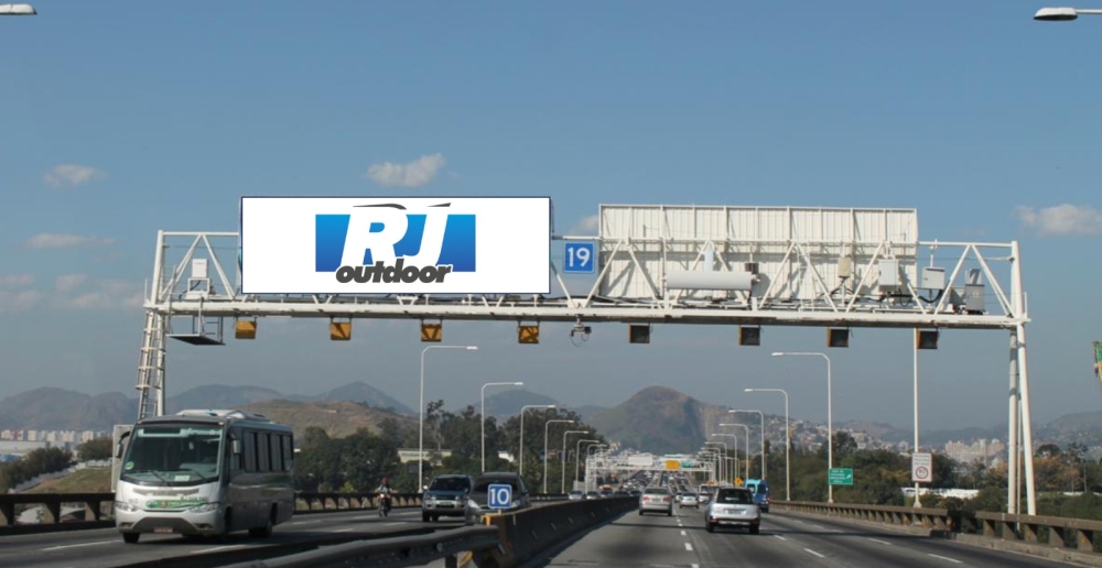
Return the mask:
[[[549,277],[558,290],[548,296],[246,295],[238,232],[159,231],[144,303],[139,418],[164,412],[166,338],[224,345],[226,319],[235,329],[276,316],[562,321],[584,334],[602,323],[1002,329],[1012,338],[1008,461],[1017,482],[1018,444],[1028,458],[1033,441],[1029,318],[1016,241],[920,241],[911,209],[602,205],[598,225],[597,236],[553,237],[560,250]],[[596,255],[593,274],[570,274],[562,248],[584,241]],[[702,272],[748,284],[674,285]],[[180,318],[186,329],[174,329]],[[1025,470],[1034,513],[1031,459]],[[1009,492],[1008,511],[1016,513],[1017,492]]]

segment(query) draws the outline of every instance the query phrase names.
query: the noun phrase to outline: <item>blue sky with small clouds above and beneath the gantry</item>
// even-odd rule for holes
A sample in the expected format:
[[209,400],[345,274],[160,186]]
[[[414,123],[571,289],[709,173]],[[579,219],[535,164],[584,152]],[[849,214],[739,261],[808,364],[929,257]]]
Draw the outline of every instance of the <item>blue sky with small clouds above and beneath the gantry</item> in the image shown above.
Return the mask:
[[[132,394],[155,231],[236,230],[241,195],[548,195],[560,230],[601,203],[915,207],[923,240],[1019,240],[1035,419],[1102,407],[1102,18],[1035,22],[1042,4],[1020,1],[34,6],[0,19],[0,396]],[[566,405],[665,384],[780,413],[742,390],[781,385],[793,415],[825,417],[820,368],[768,356],[820,350],[821,329],[769,329],[759,349],[671,326],[628,346],[615,325],[575,348],[565,329],[518,346],[510,324],[449,324],[482,350],[433,353],[426,398],[522,374]],[[366,380],[415,406],[415,324],[354,337],[263,321],[255,342],[173,343],[170,390]],[[909,342],[857,331],[831,351],[835,419],[910,424]],[[1005,420],[1006,345],[954,331],[922,354],[923,428]]]

